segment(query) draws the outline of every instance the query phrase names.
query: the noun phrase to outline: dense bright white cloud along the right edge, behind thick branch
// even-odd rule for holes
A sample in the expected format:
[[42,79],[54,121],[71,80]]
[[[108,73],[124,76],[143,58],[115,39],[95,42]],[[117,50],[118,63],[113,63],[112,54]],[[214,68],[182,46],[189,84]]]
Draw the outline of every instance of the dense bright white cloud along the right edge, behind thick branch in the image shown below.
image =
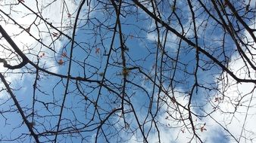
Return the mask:
[[[253,43],[251,47],[248,47],[252,54],[256,53],[254,50],[255,43],[252,40],[248,32],[245,32],[245,37],[248,41]],[[254,58],[245,50],[249,59]],[[247,63],[248,64],[248,63]],[[256,72],[249,65],[245,66],[245,62],[239,55],[233,55],[230,62],[230,70],[239,77],[247,79],[255,79]],[[217,106],[217,111],[212,114],[212,117],[225,126],[226,129],[236,138],[239,142],[254,142],[256,141],[256,99],[255,99],[255,85],[253,83],[237,83],[226,73],[223,74],[223,81],[226,81],[226,85],[220,85],[220,89],[224,89],[225,93],[222,101]],[[208,106],[208,111],[211,107]],[[216,123],[209,119],[210,124],[214,128],[218,128]],[[215,124],[215,125],[214,125]],[[220,127],[220,126],[219,126]],[[226,135],[229,133],[225,132]],[[235,139],[230,137],[231,141]]]

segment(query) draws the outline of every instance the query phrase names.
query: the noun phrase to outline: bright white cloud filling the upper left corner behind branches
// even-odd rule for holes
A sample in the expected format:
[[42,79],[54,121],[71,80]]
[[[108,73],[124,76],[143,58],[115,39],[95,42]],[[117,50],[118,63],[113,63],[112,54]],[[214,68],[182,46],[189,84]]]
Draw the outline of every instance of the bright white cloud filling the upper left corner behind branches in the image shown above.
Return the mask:
[[[53,35],[52,33],[54,32],[57,33],[57,35],[60,35],[60,33],[44,23],[39,17],[36,17],[33,12],[29,11],[21,3],[17,3],[18,2],[14,1],[0,2],[1,10],[14,20],[11,20],[4,13],[0,12],[2,17],[2,20],[0,21],[1,26],[5,29],[8,35],[11,36],[17,46],[20,47],[20,50],[23,50],[23,52],[26,53],[30,60],[36,63],[39,57],[40,66],[47,68],[49,71],[58,72],[57,61],[58,57],[61,55],[58,52],[60,52],[62,45],[65,44],[67,40],[64,39],[64,36],[58,38],[58,36]],[[23,4],[27,5],[28,8],[35,11],[40,17],[45,18],[49,23],[52,23],[53,26],[62,30],[67,35],[70,35],[72,32],[74,14],[77,8],[77,4],[74,2],[67,1],[63,3],[61,0],[54,2],[25,0]],[[24,29],[21,29],[16,23],[23,26],[24,29],[27,29],[30,34],[24,31]],[[48,47],[39,44],[39,42],[32,36],[46,46],[54,48],[57,54],[53,53],[52,50],[49,50]],[[9,46],[7,41],[5,41],[4,38],[1,38],[0,42],[2,44],[2,47],[0,47],[0,58],[7,59],[10,64],[18,64],[20,62],[17,60],[18,56],[15,53],[12,53],[13,49]],[[42,54],[44,56],[42,56]],[[22,84],[24,78],[29,78],[29,75],[24,75],[25,77],[20,78],[20,74],[15,74],[23,71],[23,69],[15,69],[14,71],[11,71],[2,67],[1,64],[0,71],[2,73],[5,72],[7,81],[12,84]],[[2,87],[3,85],[0,86]]]

